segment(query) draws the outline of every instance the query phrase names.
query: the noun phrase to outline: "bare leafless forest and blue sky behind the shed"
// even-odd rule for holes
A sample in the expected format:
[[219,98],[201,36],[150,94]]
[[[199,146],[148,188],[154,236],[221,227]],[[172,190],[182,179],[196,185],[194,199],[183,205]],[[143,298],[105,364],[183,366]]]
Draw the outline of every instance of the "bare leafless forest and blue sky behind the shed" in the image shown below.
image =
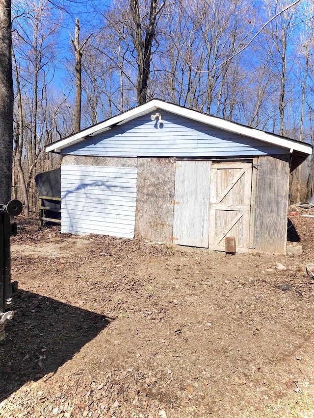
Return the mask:
[[[151,98],[314,145],[313,14],[309,0],[13,0],[12,196],[34,211],[35,175],[61,161],[45,146]],[[313,158],[293,172],[292,203],[313,199],[313,173]]]

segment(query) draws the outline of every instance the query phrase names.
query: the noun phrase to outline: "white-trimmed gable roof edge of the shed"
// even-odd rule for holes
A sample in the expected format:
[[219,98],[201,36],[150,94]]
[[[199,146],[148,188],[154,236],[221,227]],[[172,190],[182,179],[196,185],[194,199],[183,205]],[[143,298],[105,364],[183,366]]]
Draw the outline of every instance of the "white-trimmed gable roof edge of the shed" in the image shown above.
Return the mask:
[[110,130],[116,125],[122,125],[129,121],[147,115],[157,109],[165,110],[176,115],[181,115],[187,119],[191,119],[200,123],[207,124],[217,129],[222,129],[253,138],[268,144],[285,148],[292,155],[291,170],[300,165],[309,155],[312,154],[312,146],[310,144],[296,141],[284,136],[275,135],[273,133],[261,131],[239,123],[226,121],[216,116],[197,112],[177,104],[169,103],[159,99],[153,99],[140,106],[134,107],[126,112],[120,113],[104,122],[97,123],[77,133],[71,134],[66,138],[53,142],[46,147],[46,152],[62,152],[62,149],[71,145],[84,141],[86,138],[100,134]]

